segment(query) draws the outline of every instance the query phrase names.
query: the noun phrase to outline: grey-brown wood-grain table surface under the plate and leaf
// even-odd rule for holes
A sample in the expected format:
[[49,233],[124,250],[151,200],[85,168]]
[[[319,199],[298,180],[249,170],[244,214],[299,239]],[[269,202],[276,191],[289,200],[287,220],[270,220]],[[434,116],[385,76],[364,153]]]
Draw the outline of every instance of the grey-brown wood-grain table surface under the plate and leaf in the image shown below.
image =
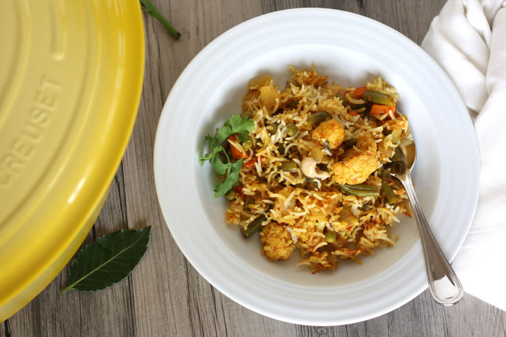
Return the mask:
[[33,301],[0,323],[0,337],[30,335],[506,335],[506,312],[470,295],[453,307],[424,292],[386,315],[356,324],[312,327],[264,317],[228,299],[202,278],[176,246],[158,207],[153,178],[156,125],[167,94],[192,58],[227,29],[261,14],[298,7],[358,13],[416,43],[445,0],[153,0],[182,33],[175,40],[145,16],[146,72],[137,123],[105,206],[89,233],[151,225],[146,256],[128,279],[99,293],[58,291],[68,265]]

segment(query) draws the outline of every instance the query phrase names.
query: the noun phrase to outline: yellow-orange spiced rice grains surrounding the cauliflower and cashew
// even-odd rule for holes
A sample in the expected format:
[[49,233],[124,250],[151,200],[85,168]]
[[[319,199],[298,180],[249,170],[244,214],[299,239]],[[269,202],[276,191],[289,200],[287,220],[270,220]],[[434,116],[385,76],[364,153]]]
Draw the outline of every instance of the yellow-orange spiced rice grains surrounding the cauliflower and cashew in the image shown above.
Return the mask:
[[[245,201],[237,194],[226,212],[227,223],[247,228],[259,214],[266,215],[263,224],[283,226],[294,247],[300,249],[304,257],[298,265],[309,266],[313,273],[335,269],[338,257],[361,263],[357,256],[373,254],[376,247],[395,245],[397,238],[392,238],[388,229],[394,222],[399,222],[399,213],[409,214],[406,193],[399,182],[392,181],[395,194],[402,198],[392,206],[388,204],[383,189],[379,197],[360,198],[344,192],[335,182],[334,174],[324,180],[305,177],[300,169],[302,160],[313,149],[322,148],[312,139],[312,131],[317,125],[310,123],[310,116],[319,111],[328,112],[331,119],[343,124],[345,142],[369,134],[377,145],[375,156],[380,167],[391,162],[401,141],[393,139],[393,131],[400,130],[401,135],[405,134],[408,121],[395,111],[377,118],[361,114],[365,107],[352,112],[352,108],[344,106],[336,95],[345,90],[348,102],[364,104],[363,99],[351,94],[355,88],[328,83],[327,76],[320,76],[314,65],[312,71],[294,68],[291,71],[292,77],[284,89],[275,85],[270,76],[249,83],[242,107],[243,115],[255,121],[255,129],[249,134],[252,147],[244,151],[240,144],[234,143],[234,146],[249,155],[244,163],[255,160],[254,165],[243,166],[238,181],[243,196],[251,200],[249,207],[245,208]],[[398,98],[395,88],[381,78],[367,83],[366,87]],[[292,136],[287,135],[289,123],[298,127]],[[277,125],[276,132],[272,131],[271,124]],[[396,131],[397,136],[398,133]],[[357,153],[364,151],[356,145],[353,147]],[[325,169],[332,173],[332,165],[342,160],[347,149],[344,143],[336,149],[326,149]],[[282,163],[290,161],[297,164],[297,171],[281,170]],[[381,186],[382,179],[374,171],[365,183]],[[326,233],[332,231],[336,239],[327,242]],[[262,252],[267,254],[269,250],[272,250],[272,244]]]

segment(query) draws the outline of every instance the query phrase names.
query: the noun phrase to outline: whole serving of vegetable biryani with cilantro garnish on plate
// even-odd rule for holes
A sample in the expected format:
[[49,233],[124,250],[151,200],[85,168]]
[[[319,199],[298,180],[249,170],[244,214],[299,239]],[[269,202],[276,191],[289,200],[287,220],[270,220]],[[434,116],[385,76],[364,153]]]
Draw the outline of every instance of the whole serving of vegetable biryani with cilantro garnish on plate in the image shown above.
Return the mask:
[[271,76],[248,84],[242,113],[206,137],[201,164],[223,178],[215,197],[230,202],[226,223],[259,239],[269,260],[299,250],[297,265],[312,273],[340,259],[361,263],[360,255],[395,245],[389,229],[409,216],[388,169],[412,141],[395,109],[399,95],[381,78],[343,87],[314,65],[290,69],[282,86]]

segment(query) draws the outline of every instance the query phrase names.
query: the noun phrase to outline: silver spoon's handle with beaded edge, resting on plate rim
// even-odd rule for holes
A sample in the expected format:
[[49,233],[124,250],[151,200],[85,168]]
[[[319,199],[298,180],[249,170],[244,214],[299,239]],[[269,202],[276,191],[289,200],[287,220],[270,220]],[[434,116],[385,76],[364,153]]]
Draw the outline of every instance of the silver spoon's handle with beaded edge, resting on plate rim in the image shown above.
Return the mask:
[[[396,175],[397,176],[397,175]],[[416,224],[420,233],[421,246],[424,250],[425,267],[427,269],[427,279],[429,289],[434,300],[444,306],[450,306],[457,303],[463,295],[462,284],[455,275],[453,268],[446,259],[439,247],[429,223],[425,218],[424,211],[421,209],[418,198],[414,192],[411,181],[410,171],[404,176],[397,176],[402,182],[408,194],[409,201],[413,208]]]

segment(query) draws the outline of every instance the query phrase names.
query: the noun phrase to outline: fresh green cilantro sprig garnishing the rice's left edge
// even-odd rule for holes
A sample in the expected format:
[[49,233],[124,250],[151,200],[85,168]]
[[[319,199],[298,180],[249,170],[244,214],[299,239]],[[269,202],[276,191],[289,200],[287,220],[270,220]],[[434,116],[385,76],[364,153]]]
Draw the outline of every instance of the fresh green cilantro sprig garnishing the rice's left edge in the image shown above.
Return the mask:
[[[225,195],[234,186],[237,180],[239,180],[239,171],[242,167],[242,159],[232,163],[222,143],[233,134],[238,135],[239,141],[246,141],[249,139],[248,132],[254,128],[255,121],[246,116],[241,117],[239,114],[235,114],[225,122],[221,129],[216,128],[214,137],[210,135],[205,137],[205,140],[209,142],[210,153],[199,158],[200,165],[202,166],[206,161],[209,161],[209,164],[214,167],[216,174],[226,174],[225,180],[214,188],[215,198]],[[218,156],[222,152],[224,156]]]

